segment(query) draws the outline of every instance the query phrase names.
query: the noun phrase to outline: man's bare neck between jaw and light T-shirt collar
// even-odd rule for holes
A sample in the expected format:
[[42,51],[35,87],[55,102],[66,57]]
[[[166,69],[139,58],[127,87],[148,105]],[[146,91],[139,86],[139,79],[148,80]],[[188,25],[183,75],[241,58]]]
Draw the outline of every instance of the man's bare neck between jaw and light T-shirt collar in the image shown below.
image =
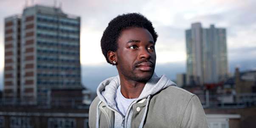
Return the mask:
[[146,85],[146,82],[127,80],[124,77],[120,77],[120,83],[122,95],[129,99],[138,98]]

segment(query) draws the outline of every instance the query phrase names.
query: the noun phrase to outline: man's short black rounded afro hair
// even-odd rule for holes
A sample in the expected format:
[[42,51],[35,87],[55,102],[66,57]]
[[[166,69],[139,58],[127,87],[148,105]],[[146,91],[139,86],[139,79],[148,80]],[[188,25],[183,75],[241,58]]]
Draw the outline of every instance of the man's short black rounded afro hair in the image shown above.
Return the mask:
[[151,33],[154,42],[157,41],[158,34],[152,26],[152,22],[139,13],[128,13],[118,15],[112,19],[101,37],[101,50],[108,63],[112,64],[107,57],[108,51],[116,52],[118,49],[117,41],[121,32],[128,28],[145,28]]

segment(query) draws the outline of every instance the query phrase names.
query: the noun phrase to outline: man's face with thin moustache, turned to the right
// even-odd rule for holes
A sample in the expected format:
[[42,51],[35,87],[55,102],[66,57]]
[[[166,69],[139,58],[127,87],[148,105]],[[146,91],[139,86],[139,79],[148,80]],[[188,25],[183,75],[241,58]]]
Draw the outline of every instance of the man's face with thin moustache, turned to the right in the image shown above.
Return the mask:
[[155,70],[155,42],[144,28],[129,28],[121,32],[116,51],[120,77],[132,81],[148,81]]

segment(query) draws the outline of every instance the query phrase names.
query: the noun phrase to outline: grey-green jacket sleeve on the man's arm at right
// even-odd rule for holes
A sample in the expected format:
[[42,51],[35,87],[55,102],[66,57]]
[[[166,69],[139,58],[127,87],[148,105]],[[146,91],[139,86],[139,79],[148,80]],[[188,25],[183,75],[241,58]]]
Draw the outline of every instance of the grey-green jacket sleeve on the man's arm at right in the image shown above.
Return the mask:
[[208,128],[205,112],[196,95],[188,101],[180,128]]

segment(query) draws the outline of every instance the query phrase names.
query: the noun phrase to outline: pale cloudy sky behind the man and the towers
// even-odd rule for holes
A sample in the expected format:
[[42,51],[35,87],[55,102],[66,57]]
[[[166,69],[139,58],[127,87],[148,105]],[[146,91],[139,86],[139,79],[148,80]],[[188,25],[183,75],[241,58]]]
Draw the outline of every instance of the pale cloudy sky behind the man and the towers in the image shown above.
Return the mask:
[[[3,88],[4,18],[22,14],[25,6],[61,7],[81,17],[82,83],[95,90],[102,80],[117,75],[101,53],[100,39],[108,22],[119,14],[138,12],[152,21],[158,75],[175,79],[186,71],[185,30],[191,23],[226,28],[229,71],[256,69],[256,0],[0,0],[0,89]],[[99,72],[108,73],[99,73]],[[104,75],[101,75],[104,74]]]

